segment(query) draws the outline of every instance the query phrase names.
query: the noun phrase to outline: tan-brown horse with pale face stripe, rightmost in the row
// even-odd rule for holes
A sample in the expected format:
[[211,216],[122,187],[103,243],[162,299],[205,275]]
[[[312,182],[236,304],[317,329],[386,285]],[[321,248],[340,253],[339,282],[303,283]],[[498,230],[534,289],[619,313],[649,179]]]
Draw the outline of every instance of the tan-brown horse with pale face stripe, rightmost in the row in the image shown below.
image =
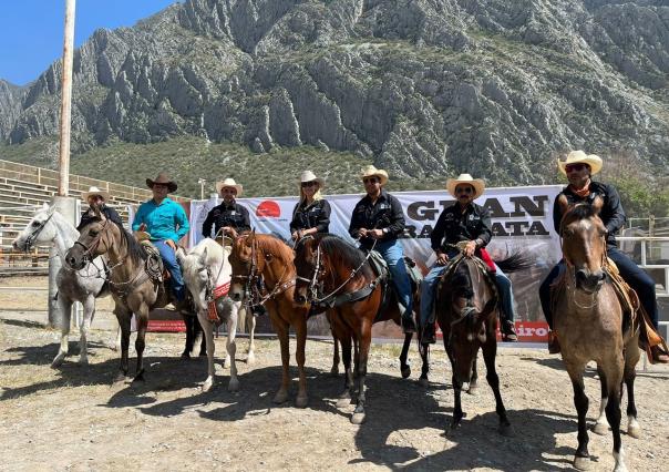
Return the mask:
[[[560,233],[566,271],[554,293],[554,326],[559,336],[563,360],[572,386],[574,404],[578,412],[578,449],[574,459],[576,469],[589,465],[583,371],[590,360],[597,362],[601,382],[600,418],[595,432],[607,431],[606,420],[614,434],[616,471],[626,470],[620,440],[620,396],[625,380],[628,392],[628,433],[640,433],[636,420],[634,381],[635,366],[639,360],[639,331],[635,324],[625,320],[624,310],[607,275],[606,228],[598,211],[601,201],[594,205],[564,206]],[[562,281],[562,284],[559,283]]]

